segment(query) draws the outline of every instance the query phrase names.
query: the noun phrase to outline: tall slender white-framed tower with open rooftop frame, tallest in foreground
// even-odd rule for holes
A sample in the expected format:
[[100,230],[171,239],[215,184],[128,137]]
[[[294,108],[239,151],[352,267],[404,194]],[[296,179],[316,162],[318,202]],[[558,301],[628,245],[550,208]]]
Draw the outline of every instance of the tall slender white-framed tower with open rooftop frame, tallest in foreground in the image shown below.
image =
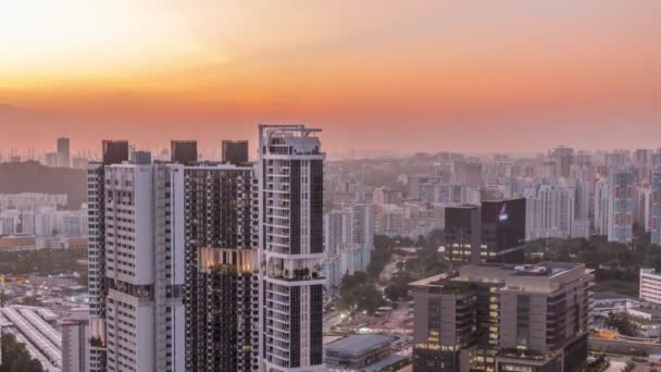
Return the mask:
[[265,371],[321,371],[323,164],[303,125],[259,127],[260,357]]

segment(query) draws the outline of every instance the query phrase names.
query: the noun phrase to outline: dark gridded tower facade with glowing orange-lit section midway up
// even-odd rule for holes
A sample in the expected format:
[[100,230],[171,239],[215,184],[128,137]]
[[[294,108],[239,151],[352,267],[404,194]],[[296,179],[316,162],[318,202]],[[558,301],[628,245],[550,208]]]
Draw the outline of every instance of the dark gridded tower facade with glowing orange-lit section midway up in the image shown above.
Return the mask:
[[[177,166],[186,264],[186,371],[259,368],[258,195],[252,166]],[[179,200],[179,196],[182,196]],[[179,204],[180,203],[180,204]]]

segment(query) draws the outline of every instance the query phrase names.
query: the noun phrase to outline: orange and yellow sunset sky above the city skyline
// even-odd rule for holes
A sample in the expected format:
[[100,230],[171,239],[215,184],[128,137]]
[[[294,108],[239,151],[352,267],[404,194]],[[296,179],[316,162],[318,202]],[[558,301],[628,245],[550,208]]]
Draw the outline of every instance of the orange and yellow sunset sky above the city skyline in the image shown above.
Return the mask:
[[0,0],[0,151],[661,147],[658,0]]

